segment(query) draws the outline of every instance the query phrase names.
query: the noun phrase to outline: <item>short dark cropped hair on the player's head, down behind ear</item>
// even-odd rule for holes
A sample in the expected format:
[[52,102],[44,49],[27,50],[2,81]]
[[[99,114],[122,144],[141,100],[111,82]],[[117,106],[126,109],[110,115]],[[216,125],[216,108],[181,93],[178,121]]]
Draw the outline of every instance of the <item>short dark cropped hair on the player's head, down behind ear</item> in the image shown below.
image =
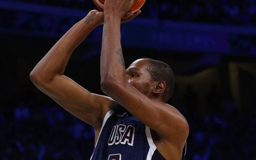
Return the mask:
[[171,67],[163,61],[158,61],[150,58],[142,59],[149,61],[147,71],[149,72],[153,81],[165,81],[166,86],[163,101],[167,102],[172,97],[174,91],[174,75]]

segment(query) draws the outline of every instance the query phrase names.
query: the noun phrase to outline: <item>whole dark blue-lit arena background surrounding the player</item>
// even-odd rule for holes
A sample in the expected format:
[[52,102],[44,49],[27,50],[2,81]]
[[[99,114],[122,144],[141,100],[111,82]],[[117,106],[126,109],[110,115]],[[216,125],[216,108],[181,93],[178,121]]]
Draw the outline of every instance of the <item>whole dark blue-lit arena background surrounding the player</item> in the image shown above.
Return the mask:
[[[91,126],[29,81],[91,0],[0,1],[0,159],[90,159]],[[150,0],[122,25],[126,66],[142,57],[168,63],[169,103],[187,118],[187,159],[256,159],[256,1]],[[65,75],[100,90],[102,26],[75,50]]]

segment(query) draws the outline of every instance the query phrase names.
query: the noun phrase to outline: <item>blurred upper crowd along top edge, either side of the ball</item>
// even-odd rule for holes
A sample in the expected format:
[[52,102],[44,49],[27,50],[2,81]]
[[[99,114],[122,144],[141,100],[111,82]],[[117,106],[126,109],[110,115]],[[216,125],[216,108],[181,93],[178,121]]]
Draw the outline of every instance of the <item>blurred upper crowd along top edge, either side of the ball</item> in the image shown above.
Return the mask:
[[[4,0],[5,1],[5,0]],[[96,9],[92,0],[13,0],[79,10]],[[142,7],[142,16],[154,19],[177,20],[231,25],[256,25],[255,0],[189,1],[152,0]]]

